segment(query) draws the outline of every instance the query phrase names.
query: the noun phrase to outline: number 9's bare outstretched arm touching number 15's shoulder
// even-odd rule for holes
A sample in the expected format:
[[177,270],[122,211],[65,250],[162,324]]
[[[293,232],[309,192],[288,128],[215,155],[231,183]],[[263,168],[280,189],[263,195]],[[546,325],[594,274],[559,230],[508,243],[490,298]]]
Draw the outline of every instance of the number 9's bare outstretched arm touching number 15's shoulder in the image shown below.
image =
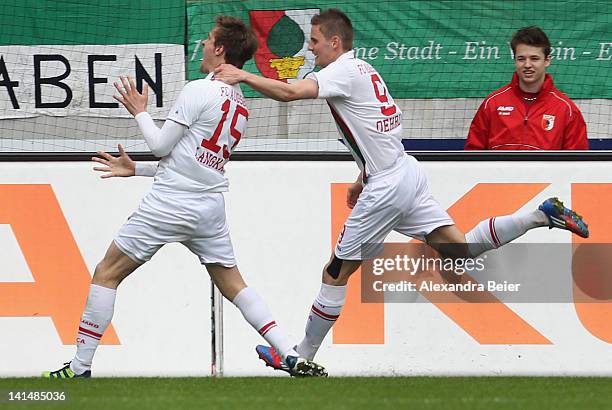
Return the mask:
[[294,101],[317,98],[319,85],[314,80],[298,80],[291,84],[260,77],[231,64],[221,64],[215,69],[215,80],[227,84],[245,83],[256,91],[277,101]]

